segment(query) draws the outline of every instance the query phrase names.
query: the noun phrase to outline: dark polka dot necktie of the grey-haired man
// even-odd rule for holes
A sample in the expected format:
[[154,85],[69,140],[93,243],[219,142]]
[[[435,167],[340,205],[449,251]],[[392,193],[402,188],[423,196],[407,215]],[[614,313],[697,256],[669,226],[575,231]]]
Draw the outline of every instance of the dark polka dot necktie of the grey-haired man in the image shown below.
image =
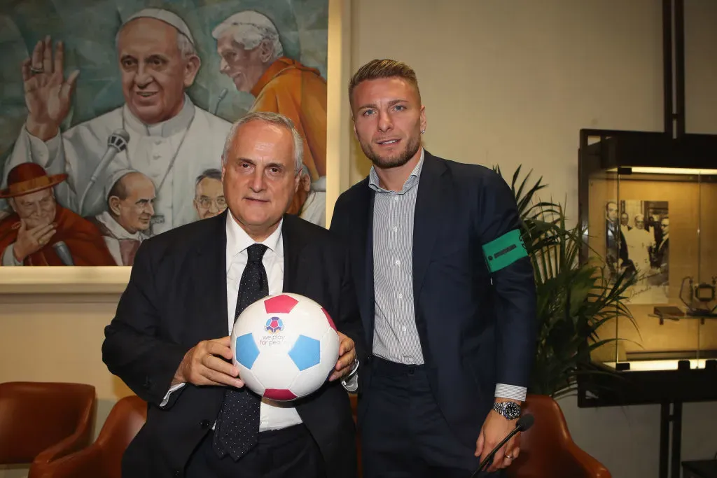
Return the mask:
[[[262,264],[267,247],[253,244],[247,249],[249,260],[239,282],[234,320],[249,305],[269,295],[269,279]],[[259,439],[261,398],[247,387],[227,388],[214,430],[214,451],[219,457],[229,454],[234,461],[243,457]]]

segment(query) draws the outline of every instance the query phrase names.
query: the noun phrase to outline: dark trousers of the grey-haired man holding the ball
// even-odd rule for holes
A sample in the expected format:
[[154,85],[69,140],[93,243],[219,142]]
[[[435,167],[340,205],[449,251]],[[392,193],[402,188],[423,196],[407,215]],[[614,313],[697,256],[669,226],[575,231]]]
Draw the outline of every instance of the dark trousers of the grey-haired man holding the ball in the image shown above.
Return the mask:
[[210,431],[186,466],[186,478],[326,478],[318,445],[302,425],[262,431],[259,443],[234,462],[219,458],[212,448]]

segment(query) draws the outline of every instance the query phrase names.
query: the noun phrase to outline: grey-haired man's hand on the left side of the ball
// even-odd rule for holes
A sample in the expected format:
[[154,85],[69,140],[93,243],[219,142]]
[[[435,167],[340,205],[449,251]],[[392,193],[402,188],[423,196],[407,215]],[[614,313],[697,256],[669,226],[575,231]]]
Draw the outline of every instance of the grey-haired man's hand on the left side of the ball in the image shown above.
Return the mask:
[[[174,374],[172,385],[193,383],[243,387],[244,382],[239,379],[239,368],[231,362],[232,349],[229,348],[229,342],[227,335],[224,338],[202,340],[190,348]],[[353,347],[353,343],[351,346]]]

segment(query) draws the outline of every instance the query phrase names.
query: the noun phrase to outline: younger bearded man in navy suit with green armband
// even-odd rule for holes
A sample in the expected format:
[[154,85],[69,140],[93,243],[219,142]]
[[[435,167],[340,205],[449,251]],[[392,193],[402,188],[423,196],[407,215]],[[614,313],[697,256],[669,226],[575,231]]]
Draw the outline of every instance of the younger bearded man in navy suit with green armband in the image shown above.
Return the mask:
[[[348,89],[373,167],[331,230],[351,268],[371,355],[361,370],[364,476],[470,477],[515,427],[536,342],[533,269],[511,189],[432,156],[413,70],[374,60]],[[508,441],[490,472],[518,457]]]

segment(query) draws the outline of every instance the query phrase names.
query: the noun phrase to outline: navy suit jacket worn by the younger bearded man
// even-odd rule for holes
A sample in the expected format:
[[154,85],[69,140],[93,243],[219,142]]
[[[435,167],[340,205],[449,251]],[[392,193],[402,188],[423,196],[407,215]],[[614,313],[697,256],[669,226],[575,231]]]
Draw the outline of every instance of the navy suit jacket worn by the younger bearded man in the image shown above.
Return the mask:
[[[364,179],[336,202],[331,230],[351,246],[370,352],[374,337],[375,192]],[[413,231],[413,293],[432,392],[457,436],[474,444],[495,384],[528,386],[536,348],[536,290],[528,257],[490,273],[483,245],[520,227],[508,185],[488,168],[426,152]],[[367,358],[370,360],[371,358]],[[362,369],[359,424],[371,406]]]

